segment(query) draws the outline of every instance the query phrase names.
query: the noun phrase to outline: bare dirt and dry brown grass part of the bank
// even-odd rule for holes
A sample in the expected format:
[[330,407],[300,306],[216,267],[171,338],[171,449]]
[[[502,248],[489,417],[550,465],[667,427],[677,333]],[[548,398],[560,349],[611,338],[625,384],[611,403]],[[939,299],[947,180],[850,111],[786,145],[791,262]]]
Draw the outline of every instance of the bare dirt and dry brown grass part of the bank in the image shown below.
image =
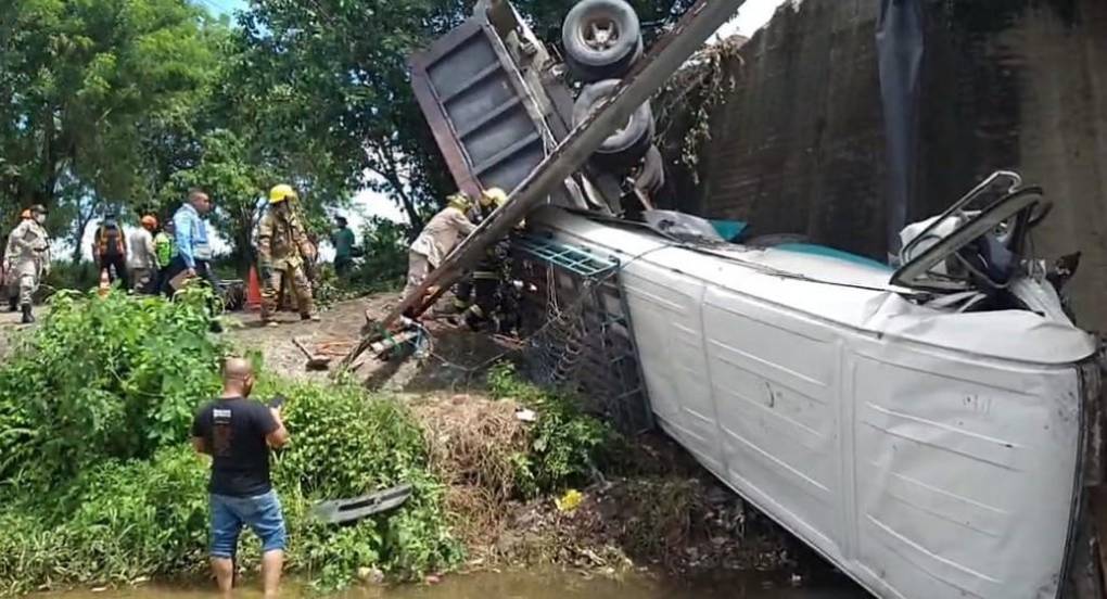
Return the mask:
[[[247,326],[230,334],[261,348],[266,362],[282,372],[318,380],[325,373],[304,369],[290,338],[341,343],[366,310],[381,317],[399,299],[382,293],[340,302],[321,326],[292,323],[277,334],[241,314]],[[592,574],[646,568],[690,579],[756,571],[799,585],[832,576],[806,546],[661,433],[620,438],[579,488],[520,497],[513,459],[527,453],[534,425],[517,412],[532,391],[510,382],[489,385],[480,368],[510,358],[511,348],[445,322],[427,328],[434,337],[428,359],[370,361],[359,378],[408,404],[425,431],[432,466],[446,484],[452,528],[467,548],[466,569],[552,564]],[[570,492],[579,503],[568,508],[572,502],[560,499]]]

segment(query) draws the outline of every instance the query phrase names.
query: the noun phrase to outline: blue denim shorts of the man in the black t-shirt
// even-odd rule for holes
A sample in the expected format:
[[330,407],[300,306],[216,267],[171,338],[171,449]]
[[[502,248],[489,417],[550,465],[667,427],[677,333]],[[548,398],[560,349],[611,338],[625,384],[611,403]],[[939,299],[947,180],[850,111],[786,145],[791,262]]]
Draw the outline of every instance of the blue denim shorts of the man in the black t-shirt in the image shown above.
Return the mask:
[[261,539],[261,552],[283,550],[284,516],[277,492],[255,497],[229,497],[211,494],[211,557],[235,557],[242,526]]

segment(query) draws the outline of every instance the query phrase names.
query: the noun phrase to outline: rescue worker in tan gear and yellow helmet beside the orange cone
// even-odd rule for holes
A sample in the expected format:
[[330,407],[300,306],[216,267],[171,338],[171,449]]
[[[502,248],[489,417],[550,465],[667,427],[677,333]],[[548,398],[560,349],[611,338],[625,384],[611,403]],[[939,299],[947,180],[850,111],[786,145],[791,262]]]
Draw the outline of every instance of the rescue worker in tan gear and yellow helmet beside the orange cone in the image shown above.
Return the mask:
[[287,279],[292,280],[302,320],[319,320],[311,298],[308,267],[315,251],[303,223],[290,205],[297,198],[291,186],[269,192],[269,209],[258,225],[258,272],[261,275],[261,322],[276,327],[277,297]]

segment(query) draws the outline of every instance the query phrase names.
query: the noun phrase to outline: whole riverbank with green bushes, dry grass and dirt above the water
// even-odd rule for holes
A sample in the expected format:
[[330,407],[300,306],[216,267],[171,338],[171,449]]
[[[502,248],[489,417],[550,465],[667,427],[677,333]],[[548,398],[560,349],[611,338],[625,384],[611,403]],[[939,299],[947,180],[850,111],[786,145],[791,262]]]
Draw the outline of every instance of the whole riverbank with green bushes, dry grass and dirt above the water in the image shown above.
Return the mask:
[[[0,366],[0,441],[12,450],[0,465],[0,593],[203,576],[204,465],[185,437],[227,351],[258,352],[258,394],[289,396],[296,442],[275,481],[289,569],[315,589],[536,565],[679,579],[756,571],[789,586],[830,572],[663,436],[620,437],[508,365],[477,369],[510,358],[484,335],[432,324],[432,358],[368,363],[368,389],[307,371],[291,340],[352,341],[365,306],[278,329],[232,316],[241,322],[211,337],[194,311],[112,296],[64,300],[24,329],[31,344]],[[307,517],[315,500],[399,483],[416,493],[394,513],[351,528]],[[244,543],[245,574],[256,558]]]

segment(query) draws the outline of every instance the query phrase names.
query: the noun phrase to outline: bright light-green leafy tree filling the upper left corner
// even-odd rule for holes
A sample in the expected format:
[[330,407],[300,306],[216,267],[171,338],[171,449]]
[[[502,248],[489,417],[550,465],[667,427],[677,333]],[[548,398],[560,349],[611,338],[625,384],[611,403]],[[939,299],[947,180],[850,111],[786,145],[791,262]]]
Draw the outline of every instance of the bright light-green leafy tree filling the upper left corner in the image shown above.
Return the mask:
[[[0,6],[0,208],[43,204],[80,240],[103,203],[168,180],[168,138],[213,83],[226,35],[186,0],[7,0]],[[173,157],[151,161],[151,142]],[[157,164],[154,164],[156,162]]]

